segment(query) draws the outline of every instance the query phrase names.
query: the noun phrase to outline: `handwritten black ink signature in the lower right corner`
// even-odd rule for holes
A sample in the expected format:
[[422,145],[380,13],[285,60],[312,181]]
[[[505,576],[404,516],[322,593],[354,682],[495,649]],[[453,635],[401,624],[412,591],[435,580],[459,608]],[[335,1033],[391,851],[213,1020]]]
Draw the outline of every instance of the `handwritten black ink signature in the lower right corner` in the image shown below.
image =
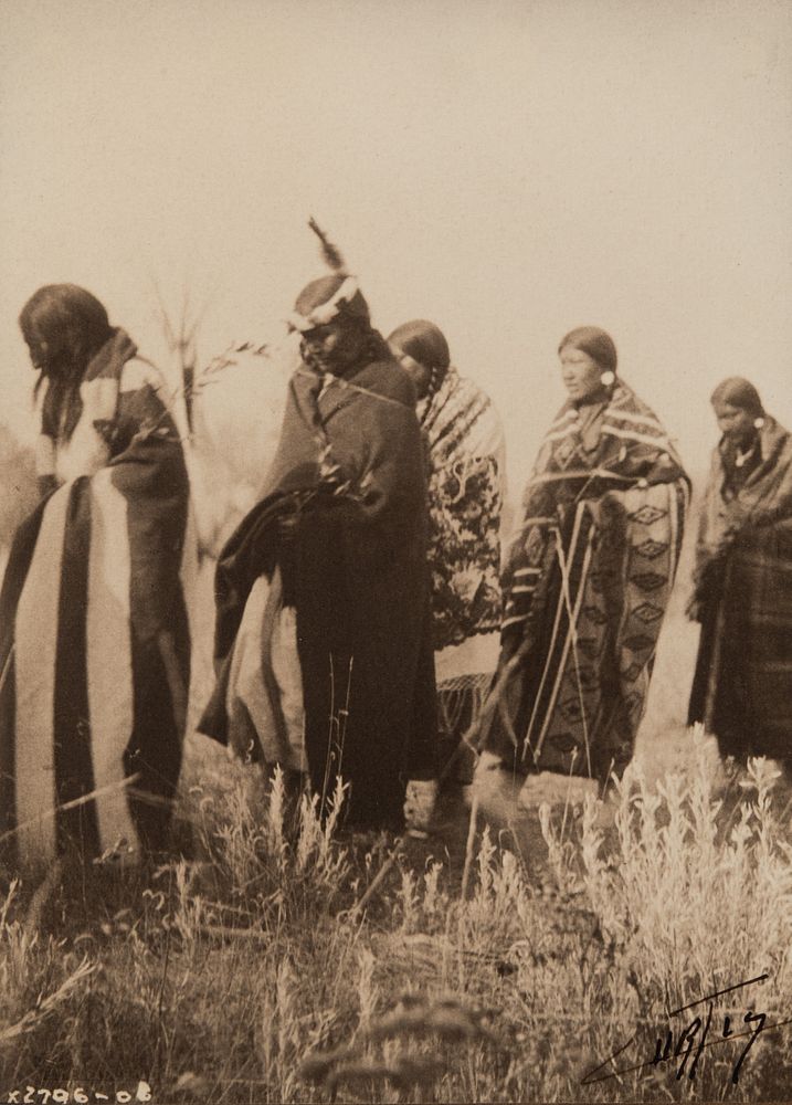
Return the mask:
[[[758,975],[756,978],[749,978],[742,982],[736,982],[733,986],[727,986],[722,990],[715,990],[712,993],[688,1002],[687,1006],[680,1006],[679,1009],[673,1009],[666,1014],[668,1021],[674,1017],[679,1017],[682,1013],[688,1012],[688,1010],[700,1006],[707,1007],[706,1012],[698,1012],[682,1030],[675,1032],[674,1029],[668,1027],[665,1033],[657,1035],[654,1043],[654,1055],[651,1059],[645,1059],[643,1062],[633,1065],[608,1070],[614,1060],[623,1055],[637,1041],[638,1034],[636,1032],[604,1062],[600,1063],[592,1071],[589,1071],[581,1078],[581,1085],[590,1086],[595,1082],[606,1082],[609,1078],[621,1077],[624,1074],[635,1071],[647,1071],[651,1067],[658,1067],[664,1064],[676,1066],[677,1081],[685,1076],[693,1081],[696,1077],[699,1060],[706,1049],[717,1048],[727,1042],[739,1041],[741,1050],[731,1070],[732,1085],[737,1085],[742,1064],[761,1033],[771,1032],[784,1024],[790,1024],[792,1023],[792,1018],[768,1023],[767,1013],[757,1012],[747,1004],[741,1019],[733,1020],[729,1013],[718,1013],[716,1017],[715,1004],[724,994],[732,993],[735,990],[741,990],[745,987],[756,986],[759,982],[765,981],[769,977],[769,975]],[[749,1027],[743,1028],[743,1025]]]

